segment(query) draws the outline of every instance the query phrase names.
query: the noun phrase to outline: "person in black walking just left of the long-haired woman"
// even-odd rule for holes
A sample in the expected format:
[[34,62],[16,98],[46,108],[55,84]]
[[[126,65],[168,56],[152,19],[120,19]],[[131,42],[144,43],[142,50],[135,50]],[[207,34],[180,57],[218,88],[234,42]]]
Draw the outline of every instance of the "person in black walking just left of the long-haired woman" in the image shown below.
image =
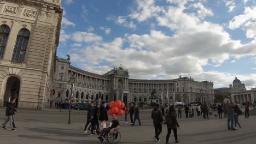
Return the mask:
[[151,118],[153,119],[153,124],[155,128],[155,136],[153,139],[155,142],[159,142],[159,135],[162,133],[162,112],[159,109],[160,105],[156,104],[154,110],[151,113]]

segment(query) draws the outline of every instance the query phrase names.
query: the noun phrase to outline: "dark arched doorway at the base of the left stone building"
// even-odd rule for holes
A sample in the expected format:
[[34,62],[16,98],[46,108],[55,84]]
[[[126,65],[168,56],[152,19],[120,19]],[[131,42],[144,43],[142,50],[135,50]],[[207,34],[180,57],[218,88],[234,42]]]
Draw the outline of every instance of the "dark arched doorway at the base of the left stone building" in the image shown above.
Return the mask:
[[4,95],[4,106],[9,103],[10,99],[16,100],[16,106],[19,103],[19,93],[20,93],[20,80],[18,77],[11,76],[8,78],[5,88]]

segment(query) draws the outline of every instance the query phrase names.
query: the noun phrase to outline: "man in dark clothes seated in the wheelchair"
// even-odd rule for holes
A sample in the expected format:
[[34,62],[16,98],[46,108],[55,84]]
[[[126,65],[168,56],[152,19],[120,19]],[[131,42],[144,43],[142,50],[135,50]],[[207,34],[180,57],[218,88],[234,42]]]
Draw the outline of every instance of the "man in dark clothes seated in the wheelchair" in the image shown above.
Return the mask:
[[100,134],[100,136],[98,136],[98,139],[103,142],[103,137],[104,136],[106,136],[109,132],[112,132],[114,130],[118,130],[119,128],[120,128],[120,124],[119,124],[119,121],[117,119],[117,114],[114,113],[112,115],[112,121],[110,122],[109,127],[104,128],[102,130],[102,133]]

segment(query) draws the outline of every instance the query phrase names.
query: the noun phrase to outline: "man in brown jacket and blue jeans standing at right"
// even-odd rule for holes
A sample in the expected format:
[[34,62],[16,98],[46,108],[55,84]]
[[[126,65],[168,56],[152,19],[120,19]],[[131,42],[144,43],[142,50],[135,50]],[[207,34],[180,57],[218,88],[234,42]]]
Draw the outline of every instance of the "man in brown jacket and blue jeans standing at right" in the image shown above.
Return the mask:
[[226,101],[226,116],[228,117],[228,130],[230,130],[230,121],[231,121],[231,130],[236,130],[234,129],[234,111],[233,111],[233,108],[236,106],[235,105],[231,105],[230,104],[230,100],[227,100]]

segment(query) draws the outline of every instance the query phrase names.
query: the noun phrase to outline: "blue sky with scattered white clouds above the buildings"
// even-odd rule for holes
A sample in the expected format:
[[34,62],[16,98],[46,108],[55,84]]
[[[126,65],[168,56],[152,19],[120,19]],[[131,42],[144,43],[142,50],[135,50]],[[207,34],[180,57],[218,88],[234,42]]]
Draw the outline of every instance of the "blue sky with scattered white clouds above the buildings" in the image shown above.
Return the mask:
[[237,79],[256,87],[256,0],[62,0],[57,56],[130,79]]

